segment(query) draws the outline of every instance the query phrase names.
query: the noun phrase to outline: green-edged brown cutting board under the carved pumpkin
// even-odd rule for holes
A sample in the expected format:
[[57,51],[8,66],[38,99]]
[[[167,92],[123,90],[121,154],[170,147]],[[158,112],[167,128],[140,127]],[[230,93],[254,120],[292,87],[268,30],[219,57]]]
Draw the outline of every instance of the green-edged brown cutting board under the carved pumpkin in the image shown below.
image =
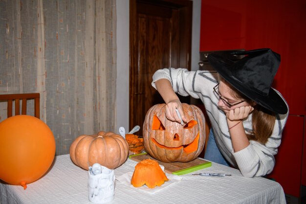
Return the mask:
[[165,167],[165,172],[169,174],[175,174],[175,175],[183,175],[183,174],[188,174],[203,168],[207,168],[212,166],[212,162],[206,161],[204,159],[194,159],[189,162],[162,162],[157,159],[154,159],[147,153],[141,153],[138,155],[131,155],[129,156],[130,159],[134,161],[142,161],[144,159],[153,159],[157,161],[160,165],[163,165]]

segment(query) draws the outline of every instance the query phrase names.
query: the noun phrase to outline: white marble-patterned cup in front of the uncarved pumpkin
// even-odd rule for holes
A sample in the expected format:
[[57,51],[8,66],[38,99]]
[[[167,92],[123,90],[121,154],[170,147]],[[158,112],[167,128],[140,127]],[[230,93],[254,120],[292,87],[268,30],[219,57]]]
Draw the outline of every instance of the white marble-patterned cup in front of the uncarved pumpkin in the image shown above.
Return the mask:
[[113,169],[101,166],[101,173],[88,171],[88,197],[90,202],[95,204],[109,203],[114,199],[114,190],[115,175]]

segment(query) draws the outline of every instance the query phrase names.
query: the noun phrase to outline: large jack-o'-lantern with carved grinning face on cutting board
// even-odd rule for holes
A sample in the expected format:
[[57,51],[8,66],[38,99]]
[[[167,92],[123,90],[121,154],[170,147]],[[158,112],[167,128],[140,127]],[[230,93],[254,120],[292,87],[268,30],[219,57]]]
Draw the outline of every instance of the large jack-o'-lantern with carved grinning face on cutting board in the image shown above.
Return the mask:
[[163,162],[196,159],[205,143],[205,117],[194,105],[182,104],[187,124],[168,120],[166,104],[154,105],[146,114],[143,138],[146,151]]

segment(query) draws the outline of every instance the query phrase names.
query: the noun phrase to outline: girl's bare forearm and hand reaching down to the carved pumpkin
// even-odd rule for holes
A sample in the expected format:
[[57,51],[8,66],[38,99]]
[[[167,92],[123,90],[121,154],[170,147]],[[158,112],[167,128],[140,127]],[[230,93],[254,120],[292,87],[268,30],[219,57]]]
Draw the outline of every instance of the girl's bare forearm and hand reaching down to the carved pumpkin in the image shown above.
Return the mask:
[[155,82],[156,90],[159,92],[161,97],[164,99],[166,106],[166,116],[169,120],[181,122],[177,116],[175,109],[177,108],[179,113],[182,116],[184,122],[187,121],[185,118],[184,112],[182,110],[182,104],[179,101],[175,91],[171,86],[171,83],[168,79],[159,79]]

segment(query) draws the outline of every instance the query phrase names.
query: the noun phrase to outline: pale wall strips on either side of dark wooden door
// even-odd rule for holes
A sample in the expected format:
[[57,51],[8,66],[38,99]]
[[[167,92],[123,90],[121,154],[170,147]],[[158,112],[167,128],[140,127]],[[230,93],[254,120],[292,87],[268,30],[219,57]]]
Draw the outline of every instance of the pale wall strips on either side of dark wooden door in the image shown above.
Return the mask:
[[[191,69],[198,69],[200,59],[200,17],[201,0],[193,0]],[[123,126],[129,128],[129,0],[116,0],[117,13],[117,89],[116,89],[116,124],[117,130]],[[119,133],[119,132],[118,132]]]

